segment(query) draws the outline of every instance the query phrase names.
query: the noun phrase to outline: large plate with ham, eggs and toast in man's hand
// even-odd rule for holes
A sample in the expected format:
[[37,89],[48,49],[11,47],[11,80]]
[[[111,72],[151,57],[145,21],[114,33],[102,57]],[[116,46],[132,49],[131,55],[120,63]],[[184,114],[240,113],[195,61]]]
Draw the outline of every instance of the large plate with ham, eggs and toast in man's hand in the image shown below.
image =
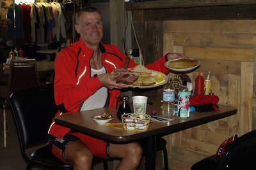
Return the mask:
[[141,64],[131,69],[115,69],[113,73],[120,73],[120,76],[116,78],[116,83],[140,89],[157,87],[168,81],[166,74],[147,69]]

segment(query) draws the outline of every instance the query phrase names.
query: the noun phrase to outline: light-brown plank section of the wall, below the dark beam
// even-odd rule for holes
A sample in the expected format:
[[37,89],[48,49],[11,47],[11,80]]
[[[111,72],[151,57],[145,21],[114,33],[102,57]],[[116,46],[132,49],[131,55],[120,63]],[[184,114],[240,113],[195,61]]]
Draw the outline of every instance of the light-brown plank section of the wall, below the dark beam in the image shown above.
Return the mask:
[[[211,71],[212,92],[220,104],[237,108],[237,114],[165,136],[171,169],[190,169],[196,161],[216,153],[232,134],[252,131],[255,105],[254,53],[256,20],[190,20],[163,22],[163,53],[182,52],[200,60],[189,77],[195,87],[199,71]],[[169,74],[172,76],[172,73]]]

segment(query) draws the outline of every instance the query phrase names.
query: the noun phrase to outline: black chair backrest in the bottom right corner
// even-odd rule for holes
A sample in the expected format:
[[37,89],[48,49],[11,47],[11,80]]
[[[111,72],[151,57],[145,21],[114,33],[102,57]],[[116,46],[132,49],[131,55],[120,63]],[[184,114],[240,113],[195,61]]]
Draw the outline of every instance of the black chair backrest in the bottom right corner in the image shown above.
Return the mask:
[[228,143],[217,169],[255,169],[256,131],[251,131]]

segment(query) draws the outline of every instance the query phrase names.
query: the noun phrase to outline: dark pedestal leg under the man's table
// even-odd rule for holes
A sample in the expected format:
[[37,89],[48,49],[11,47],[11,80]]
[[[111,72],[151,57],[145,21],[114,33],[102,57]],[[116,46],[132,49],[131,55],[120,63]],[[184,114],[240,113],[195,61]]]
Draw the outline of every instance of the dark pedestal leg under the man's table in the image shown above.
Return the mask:
[[156,169],[156,136],[149,136],[147,138],[147,155],[145,167],[146,170]]

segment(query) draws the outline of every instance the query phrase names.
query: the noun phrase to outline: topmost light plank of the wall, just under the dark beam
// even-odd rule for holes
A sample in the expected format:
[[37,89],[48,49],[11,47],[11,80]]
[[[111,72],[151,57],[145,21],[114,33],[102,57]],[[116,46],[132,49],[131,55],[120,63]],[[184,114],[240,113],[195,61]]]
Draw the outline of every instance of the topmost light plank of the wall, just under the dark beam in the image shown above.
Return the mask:
[[[189,33],[191,39],[195,38],[194,41],[196,41],[198,38],[201,39],[201,36],[204,38],[204,34],[211,36],[214,36],[214,34],[225,36],[226,33],[237,34],[237,36],[241,36],[240,34],[253,35],[256,33],[254,25],[256,25],[256,20],[166,20],[163,22],[163,31],[166,33],[184,33],[185,37],[188,37],[186,33]],[[178,38],[182,38],[182,34]],[[236,41],[236,43],[239,42]],[[233,42],[233,45],[236,44]]]

